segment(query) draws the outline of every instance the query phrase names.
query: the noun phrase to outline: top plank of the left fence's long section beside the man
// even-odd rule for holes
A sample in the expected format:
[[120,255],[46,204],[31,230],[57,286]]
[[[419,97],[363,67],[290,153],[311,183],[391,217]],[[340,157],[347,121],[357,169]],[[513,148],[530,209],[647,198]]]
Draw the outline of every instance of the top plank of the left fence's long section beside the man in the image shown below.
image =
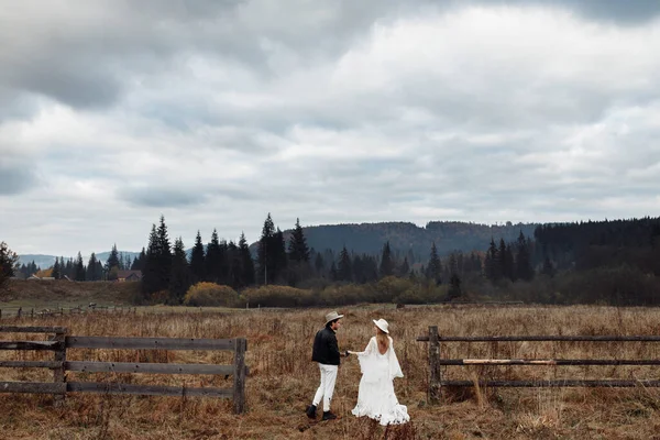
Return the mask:
[[66,337],[67,349],[233,350],[233,339]]

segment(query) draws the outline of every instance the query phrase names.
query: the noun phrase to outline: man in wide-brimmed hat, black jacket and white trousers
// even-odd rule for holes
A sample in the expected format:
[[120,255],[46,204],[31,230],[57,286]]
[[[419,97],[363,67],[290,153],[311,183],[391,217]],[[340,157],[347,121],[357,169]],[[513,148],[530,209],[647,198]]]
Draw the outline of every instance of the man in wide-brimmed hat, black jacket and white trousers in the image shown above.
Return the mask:
[[[337,311],[326,315],[326,327],[319,330],[314,338],[314,349],[311,360],[318,362],[321,371],[321,384],[314,396],[311,405],[307,407],[307,417],[316,418],[316,410],[321,399],[323,399],[323,420],[333,420],[337,418],[330,411],[330,400],[334,393],[334,383],[337,382],[337,372],[339,369],[339,359],[341,353],[337,344],[337,330],[341,327],[341,318]],[[344,355],[348,355],[344,353]]]

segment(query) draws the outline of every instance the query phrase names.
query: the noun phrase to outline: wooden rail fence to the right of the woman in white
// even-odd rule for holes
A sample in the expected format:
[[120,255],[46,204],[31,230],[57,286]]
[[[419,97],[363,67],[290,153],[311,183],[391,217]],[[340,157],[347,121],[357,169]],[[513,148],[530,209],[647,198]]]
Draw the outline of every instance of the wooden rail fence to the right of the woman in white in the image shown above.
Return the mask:
[[660,336],[502,336],[502,337],[443,337],[438,327],[429,327],[428,336],[417,341],[429,342],[429,400],[438,403],[443,386],[481,387],[660,387],[656,380],[553,380],[553,381],[446,381],[441,366],[447,365],[660,365],[659,359],[442,359],[441,342],[541,342],[541,341],[582,341],[582,342],[660,342]]

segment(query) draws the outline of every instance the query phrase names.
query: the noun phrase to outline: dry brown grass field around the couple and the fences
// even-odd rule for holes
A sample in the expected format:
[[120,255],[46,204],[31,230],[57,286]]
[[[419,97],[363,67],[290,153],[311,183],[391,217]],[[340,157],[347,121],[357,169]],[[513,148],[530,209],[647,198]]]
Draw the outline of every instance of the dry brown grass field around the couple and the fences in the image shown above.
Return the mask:
[[[339,420],[309,422],[304,408],[318,385],[309,361],[311,340],[327,310],[162,310],[136,315],[94,314],[3,320],[8,324],[57,324],[76,336],[248,338],[248,406],[234,416],[231,400],[110,395],[69,395],[62,407],[46,395],[0,394],[0,432],[7,439],[660,439],[660,392],[654,388],[499,388],[444,391],[444,403],[427,403],[428,326],[440,334],[659,334],[660,310],[608,307],[448,308],[355,306],[340,309],[341,349],[361,350],[372,319],[391,322],[406,377],[395,381],[411,422],[385,429],[356,419],[359,365],[340,369],[333,410]],[[22,336],[24,338],[25,336]],[[18,338],[3,334],[2,339]],[[34,338],[43,338],[34,336]],[[660,343],[506,342],[448,343],[443,358],[659,359]],[[231,363],[231,353],[78,350],[69,360]],[[0,352],[0,359],[40,360],[33,352]],[[80,381],[118,381],[231,387],[231,377],[98,375]],[[448,378],[659,378],[645,366],[447,367]],[[51,381],[52,373],[0,369],[0,381]]]

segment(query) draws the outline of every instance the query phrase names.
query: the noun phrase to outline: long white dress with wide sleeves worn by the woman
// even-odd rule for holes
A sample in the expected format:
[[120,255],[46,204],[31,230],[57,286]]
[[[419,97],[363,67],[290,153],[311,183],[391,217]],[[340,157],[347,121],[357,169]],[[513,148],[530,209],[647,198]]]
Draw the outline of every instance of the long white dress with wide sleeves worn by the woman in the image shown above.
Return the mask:
[[385,354],[378,351],[376,337],[373,337],[363,352],[355,353],[360,360],[362,378],[358,391],[358,405],[353,415],[367,416],[381,425],[398,425],[410,420],[408,408],[399,405],[394,394],[394,378],[404,377],[398,359],[394,352],[392,338]]

